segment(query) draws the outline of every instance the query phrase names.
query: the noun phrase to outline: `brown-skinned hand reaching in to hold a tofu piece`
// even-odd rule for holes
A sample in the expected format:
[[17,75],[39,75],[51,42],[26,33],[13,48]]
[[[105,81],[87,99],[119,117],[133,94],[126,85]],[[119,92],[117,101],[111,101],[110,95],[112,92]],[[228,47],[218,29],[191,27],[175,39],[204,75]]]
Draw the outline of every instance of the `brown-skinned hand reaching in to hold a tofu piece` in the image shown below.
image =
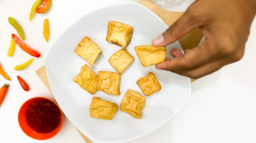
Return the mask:
[[167,46],[197,27],[204,41],[184,55],[171,49],[174,58],[156,64],[156,69],[198,79],[241,60],[255,14],[256,0],[196,0],[152,44]]

